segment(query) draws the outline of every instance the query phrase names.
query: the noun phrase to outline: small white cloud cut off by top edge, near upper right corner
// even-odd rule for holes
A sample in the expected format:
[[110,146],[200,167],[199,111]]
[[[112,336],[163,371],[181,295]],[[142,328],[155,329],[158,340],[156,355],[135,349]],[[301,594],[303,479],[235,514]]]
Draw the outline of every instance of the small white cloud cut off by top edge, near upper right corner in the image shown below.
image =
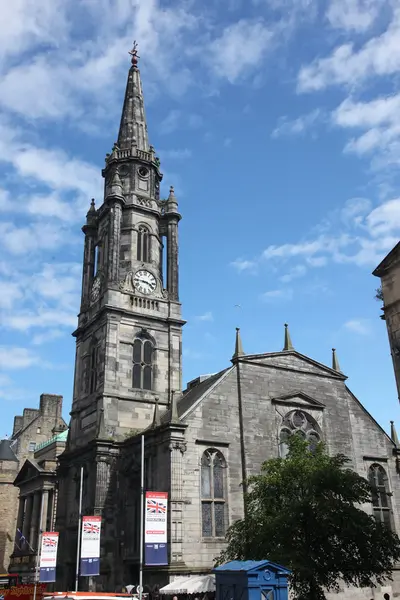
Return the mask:
[[384,3],[379,0],[331,0],[326,16],[332,27],[364,32],[374,23]]

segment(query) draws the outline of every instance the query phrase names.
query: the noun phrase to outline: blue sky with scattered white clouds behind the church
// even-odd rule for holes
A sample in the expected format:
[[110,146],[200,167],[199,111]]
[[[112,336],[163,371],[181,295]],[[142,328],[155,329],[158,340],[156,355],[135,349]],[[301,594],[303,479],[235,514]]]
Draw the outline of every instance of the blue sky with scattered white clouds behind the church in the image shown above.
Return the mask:
[[[71,403],[83,235],[139,42],[151,143],[183,215],[184,379],[248,353],[330,364],[398,421],[371,272],[399,239],[395,0],[14,0],[0,32],[0,435]],[[236,307],[235,305],[240,305]]]

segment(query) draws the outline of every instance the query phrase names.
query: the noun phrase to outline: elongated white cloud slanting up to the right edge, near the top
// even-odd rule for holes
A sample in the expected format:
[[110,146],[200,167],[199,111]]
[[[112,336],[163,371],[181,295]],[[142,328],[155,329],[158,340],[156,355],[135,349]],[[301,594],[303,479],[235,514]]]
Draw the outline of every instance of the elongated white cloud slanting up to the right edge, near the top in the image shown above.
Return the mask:
[[400,70],[400,9],[396,8],[392,22],[379,36],[369,39],[360,48],[346,43],[326,58],[315,59],[303,66],[298,75],[298,91],[311,92],[332,85],[360,85],[366,79],[393,75]]

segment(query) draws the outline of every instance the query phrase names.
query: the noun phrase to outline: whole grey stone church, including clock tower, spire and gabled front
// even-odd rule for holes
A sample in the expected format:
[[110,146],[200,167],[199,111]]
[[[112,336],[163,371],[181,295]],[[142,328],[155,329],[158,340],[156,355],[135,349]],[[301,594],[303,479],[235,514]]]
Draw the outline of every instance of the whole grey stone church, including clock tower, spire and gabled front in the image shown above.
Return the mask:
[[[145,487],[169,496],[169,564],[145,567],[146,585],[210,571],[227,528],[243,517],[241,482],[284,456],[293,432],[345,453],[376,482],[380,493],[365,510],[400,533],[396,432],[389,437],[351,393],[335,353],[330,367],[302,355],[286,328],[283,350],[245,354],[237,330],[226,368],[182,391],[181,217],[172,188],[160,197],[135,50],[103,176],[104,202],[97,209],[92,202],[83,227],[71,424],[58,469],[56,589],[74,585],[81,467],[83,514],[102,516],[101,575],[83,578],[81,589],[138,583],[141,433]],[[400,574],[392,591],[400,593]]]

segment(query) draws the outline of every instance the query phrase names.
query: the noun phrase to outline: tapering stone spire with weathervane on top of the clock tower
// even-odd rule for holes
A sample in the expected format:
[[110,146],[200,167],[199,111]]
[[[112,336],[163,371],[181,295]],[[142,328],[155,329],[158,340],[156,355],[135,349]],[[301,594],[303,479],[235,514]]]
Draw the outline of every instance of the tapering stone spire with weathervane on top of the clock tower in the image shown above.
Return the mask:
[[137,53],[136,42],[134,42],[133,48],[129,54],[132,57],[132,66],[129,69],[128,81],[126,84],[124,107],[122,109],[117,145],[120,150],[130,150],[132,146],[136,146],[139,150],[149,152],[142,81],[137,66],[139,56]]

